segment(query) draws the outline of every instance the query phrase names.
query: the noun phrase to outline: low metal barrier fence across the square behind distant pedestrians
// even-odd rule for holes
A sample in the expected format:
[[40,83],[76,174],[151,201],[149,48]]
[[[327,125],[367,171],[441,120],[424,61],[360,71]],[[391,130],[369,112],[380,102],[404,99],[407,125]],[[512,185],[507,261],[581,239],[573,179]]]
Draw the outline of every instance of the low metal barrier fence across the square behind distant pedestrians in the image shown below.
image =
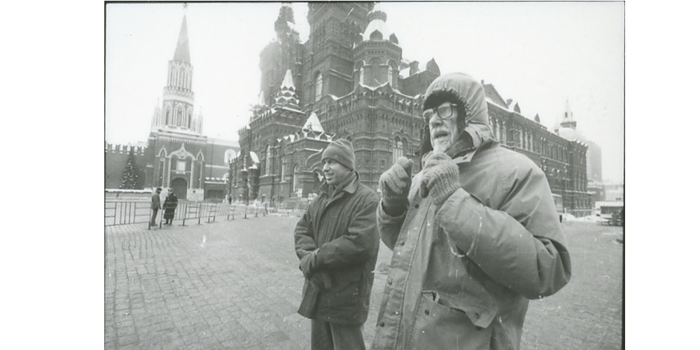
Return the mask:
[[[287,209],[284,209],[287,210]],[[226,220],[235,220],[236,218],[248,218],[248,216],[267,216],[271,212],[279,211],[270,209],[267,204],[223,204],[209,202],[187,202],[181,201],[178,203],[174,211],[172,223],[186,226],[187,223],[196,223],[199,225],[204,219],[207,223],[216,221],[216,217],[225,217]],[[151,202],[146,201],[116,201],[104,202],[104,225],[127,225],[134,223],[148,223],[148,230],[151,230]],[[156,223],[158,227],[165,224],[165,209],[158,210]]]

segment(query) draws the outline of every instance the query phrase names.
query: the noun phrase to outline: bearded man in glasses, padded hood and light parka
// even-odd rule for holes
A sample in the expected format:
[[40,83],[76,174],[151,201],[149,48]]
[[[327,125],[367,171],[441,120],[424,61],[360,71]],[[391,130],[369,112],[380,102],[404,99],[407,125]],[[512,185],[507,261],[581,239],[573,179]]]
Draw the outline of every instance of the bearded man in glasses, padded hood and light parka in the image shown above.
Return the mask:
[[500,146],[484,88],[464,73],[428,86],[423,170],[379,178],[377,228],[393,250],[372,349],[519,349],[528,300],[568,283],[549,184]]

